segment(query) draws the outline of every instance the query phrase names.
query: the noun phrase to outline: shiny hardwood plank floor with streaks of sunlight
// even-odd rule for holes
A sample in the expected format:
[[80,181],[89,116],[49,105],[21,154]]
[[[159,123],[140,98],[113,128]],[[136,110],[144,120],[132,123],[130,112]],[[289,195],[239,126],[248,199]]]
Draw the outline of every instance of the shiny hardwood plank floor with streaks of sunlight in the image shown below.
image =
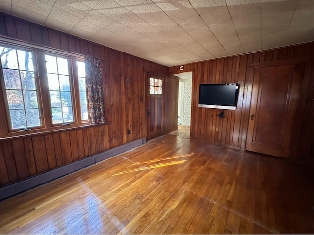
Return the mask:
[[166,135],[0,203],[2,234],[314,233],[313,169]]

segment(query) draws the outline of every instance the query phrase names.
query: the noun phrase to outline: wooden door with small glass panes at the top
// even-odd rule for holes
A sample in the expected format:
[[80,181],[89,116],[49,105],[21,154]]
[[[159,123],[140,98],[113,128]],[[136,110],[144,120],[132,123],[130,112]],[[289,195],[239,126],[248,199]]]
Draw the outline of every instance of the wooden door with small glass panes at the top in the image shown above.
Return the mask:
[[149,98],[146,106],[147,138],[164,134],[164,77],[148,73]]

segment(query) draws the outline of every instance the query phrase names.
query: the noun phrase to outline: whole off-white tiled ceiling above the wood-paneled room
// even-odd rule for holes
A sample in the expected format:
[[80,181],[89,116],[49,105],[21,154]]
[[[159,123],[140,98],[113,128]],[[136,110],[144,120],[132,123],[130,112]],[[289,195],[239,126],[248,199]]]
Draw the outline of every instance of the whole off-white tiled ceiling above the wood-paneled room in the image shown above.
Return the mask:
[[0,10],[166,66],[314,41],[314,0],[0,0]]

